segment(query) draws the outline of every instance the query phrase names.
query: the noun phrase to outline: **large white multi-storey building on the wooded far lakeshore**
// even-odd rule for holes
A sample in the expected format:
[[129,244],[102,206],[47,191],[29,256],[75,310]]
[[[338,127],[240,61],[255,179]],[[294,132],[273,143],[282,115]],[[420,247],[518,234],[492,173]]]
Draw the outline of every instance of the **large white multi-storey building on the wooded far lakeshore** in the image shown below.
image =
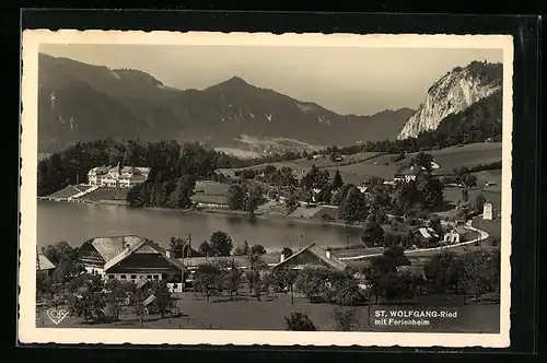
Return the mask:
[[150,173],[149,167],[124,166],[114,167],[96,166],[89,171],[88,183],[104,187],[133,187],[144,183]]

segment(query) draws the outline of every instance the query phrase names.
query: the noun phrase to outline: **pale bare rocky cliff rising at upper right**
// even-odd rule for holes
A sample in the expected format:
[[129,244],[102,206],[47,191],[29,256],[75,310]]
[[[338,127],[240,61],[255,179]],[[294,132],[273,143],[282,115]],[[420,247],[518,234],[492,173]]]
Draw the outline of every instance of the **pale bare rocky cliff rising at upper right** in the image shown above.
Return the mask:
[[502,70],[501,63],[474,61],[447,72],[429,89],[426,101],[405,124],[397,139],[435,130],[444,118],[501,91]]

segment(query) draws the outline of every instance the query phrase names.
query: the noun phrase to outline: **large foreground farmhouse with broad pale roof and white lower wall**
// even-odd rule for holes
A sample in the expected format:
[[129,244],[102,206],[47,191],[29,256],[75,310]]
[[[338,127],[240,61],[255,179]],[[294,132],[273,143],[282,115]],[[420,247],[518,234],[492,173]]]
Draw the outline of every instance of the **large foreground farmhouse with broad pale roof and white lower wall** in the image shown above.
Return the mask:
[[183,266],[152,241],[140,236],[91,238],[79,253],[85,270],[105,279],[138,282],[171,277],[175,283],[182,280]]

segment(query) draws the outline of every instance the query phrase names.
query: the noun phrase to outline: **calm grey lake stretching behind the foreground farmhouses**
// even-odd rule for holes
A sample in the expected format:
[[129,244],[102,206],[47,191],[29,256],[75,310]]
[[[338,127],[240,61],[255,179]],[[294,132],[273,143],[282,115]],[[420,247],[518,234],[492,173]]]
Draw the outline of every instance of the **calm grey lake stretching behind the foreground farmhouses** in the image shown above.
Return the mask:
[[171,237],[187,237],[191,234],[195,248],[209,241],[216,231],[228,233],[234,247],[247,241],[249,245],[260,244],[267,250],[283,247],[299,247],[316,243],[319,246],[336,247],[360,242],[362,230],[340,225],[324,225],[287,220],[257,219],[140,209],[125,206],[105,206],[38,201],[37,239],[39,246],[66,241],[80,247],[92,237],[135,234],[167,247]]

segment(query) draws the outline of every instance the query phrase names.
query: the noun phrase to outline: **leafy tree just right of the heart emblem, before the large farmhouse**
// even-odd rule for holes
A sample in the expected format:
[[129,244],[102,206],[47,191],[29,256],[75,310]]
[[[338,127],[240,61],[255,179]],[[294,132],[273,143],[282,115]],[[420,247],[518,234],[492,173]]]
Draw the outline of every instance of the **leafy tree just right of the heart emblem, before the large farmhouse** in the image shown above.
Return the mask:
[[104,283],[100,276],[85,276],[79,293],[69,297],[69,311],[71,314],[82,317],[84,323],[100,319],[104,316],[103,308],[106,306]]

